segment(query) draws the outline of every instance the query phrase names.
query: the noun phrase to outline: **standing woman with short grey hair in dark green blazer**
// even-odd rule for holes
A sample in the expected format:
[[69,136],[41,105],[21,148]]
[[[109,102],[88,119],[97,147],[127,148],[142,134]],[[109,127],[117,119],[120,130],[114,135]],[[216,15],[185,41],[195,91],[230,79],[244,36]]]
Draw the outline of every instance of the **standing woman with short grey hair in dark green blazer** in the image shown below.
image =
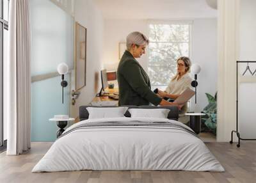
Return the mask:
[[119,87],[119,106],[145,106],[154,104],[162,106],[178,106],[175,103],[156,95],[151,91],[150,80],[135,58],[145,54],[149,41],[147,36],[136,31],[126,38],[127,50],[124,52],[117,69]]

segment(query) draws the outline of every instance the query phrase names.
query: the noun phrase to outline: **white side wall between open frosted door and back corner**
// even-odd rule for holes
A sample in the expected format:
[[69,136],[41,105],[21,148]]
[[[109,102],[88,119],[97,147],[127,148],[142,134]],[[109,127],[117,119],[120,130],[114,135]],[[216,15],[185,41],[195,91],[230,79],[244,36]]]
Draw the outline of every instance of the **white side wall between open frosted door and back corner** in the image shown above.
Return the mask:
[[87,29],[86,46],[86,86],[72,108],[73,116],[78,116],[79,106],[89,104],[99,92],[99,72],[103,67],[104,20],[92,0],[75,1],[75,20]]

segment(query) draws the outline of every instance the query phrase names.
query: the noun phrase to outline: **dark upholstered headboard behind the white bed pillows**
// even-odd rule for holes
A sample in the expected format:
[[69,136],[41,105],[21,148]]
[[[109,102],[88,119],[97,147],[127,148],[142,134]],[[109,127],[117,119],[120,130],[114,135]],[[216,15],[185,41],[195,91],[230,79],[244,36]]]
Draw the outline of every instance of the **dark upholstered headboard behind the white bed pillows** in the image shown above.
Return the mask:
[[[115,106],[80,106],[79,107],[79,119],[80,121],[87,120],[89,117],[89,113],[86,107],[115,107]],[[116,106],[117,107],[117,106]],[[178,120],[179,119],[179,109],[175,106],[124,106],[131,108],[140,108],[140,109],[170,109],[168,113],[168,119],[170,120]],[[131,117],[129,111],[126,111],[124,114],[126,117]]]

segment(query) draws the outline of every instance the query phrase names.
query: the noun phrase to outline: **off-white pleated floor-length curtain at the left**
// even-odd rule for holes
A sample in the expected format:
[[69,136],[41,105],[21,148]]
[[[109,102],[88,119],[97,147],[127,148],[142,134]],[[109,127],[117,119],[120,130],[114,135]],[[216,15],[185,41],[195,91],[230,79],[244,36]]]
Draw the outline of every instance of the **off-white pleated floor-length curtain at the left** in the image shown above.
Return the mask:
[[6,79],[7,152],[30,148],[30,44],[29,0],[10,1],[9,47]]

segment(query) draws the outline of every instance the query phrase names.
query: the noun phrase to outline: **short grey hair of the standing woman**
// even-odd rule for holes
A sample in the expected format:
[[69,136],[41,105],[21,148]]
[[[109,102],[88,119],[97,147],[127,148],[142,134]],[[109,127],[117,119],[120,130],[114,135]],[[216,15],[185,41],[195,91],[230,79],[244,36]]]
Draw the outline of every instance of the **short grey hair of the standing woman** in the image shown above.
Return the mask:
[[132,47],[132,44],[136,45],[148,45],[149,40],[148,38],[143,35],[143,33],[140,33],[138,31],[129,33],[129,35],[126,37],[126,47],[127,50],[130,50]]

